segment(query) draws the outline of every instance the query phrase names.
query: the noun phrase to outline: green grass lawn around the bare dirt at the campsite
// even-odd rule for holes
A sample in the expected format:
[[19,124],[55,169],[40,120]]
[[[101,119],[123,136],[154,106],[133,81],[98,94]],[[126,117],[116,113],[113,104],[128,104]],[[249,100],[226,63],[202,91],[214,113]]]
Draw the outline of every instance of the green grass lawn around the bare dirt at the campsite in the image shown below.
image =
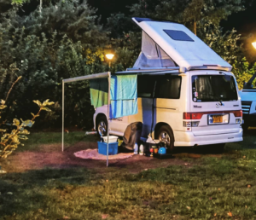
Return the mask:
[[[137,173],[115,166],[7,173],[0,176],[0,219],[256,219],[255,134],[249,130],[223,154],[191,158],[193,150],[183,149],[176,156],[184,165]],[[83,136],[70,133],[66,147]],[[18,152],[60,142],[60,133],[32,134]]]

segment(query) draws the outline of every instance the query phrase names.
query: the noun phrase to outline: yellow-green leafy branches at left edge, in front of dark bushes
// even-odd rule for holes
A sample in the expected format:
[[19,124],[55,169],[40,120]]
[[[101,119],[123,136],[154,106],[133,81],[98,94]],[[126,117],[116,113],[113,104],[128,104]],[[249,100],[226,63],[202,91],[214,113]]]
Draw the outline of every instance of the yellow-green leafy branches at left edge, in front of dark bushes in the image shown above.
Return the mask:
[[[15,83],[12,85],[9,92],[7,93],[5,100],[0,100],[0,114],[3,112],[4,109],[6,109],[6,101],[9,98],[9,94],[11,90],[13,90],[15,84],[20,80],[20,78],[21,77],[16,79]],[[54,104],[54,102],[49,101],[49,99],[44,101],[43,104],[38,100],[34,102],[38,104],[39,111],[37,114],[31,113],[32,119],[27,119],[25,121],[22,119],[13,119],[13,124],[9,124],[7,120],[0,117],[0,119],[2,120],[0,122],[0,125],[2,125],[2,127],[5,127],[4,129],[0,129],[0,159],[7,158],[7,156],[9,156],[10,153],[13,153],[16,148],[18,148],[20,145],[23,146],[20,141],[27,140],[27,135],[30,134],[30,132],[26,130],[26,127],[32,127],[32,125],[35,123],[35,119],[39,117],[41,111],[51,112],[48,106]],[[9,131],[6,126],[15,126],[15,129]]]

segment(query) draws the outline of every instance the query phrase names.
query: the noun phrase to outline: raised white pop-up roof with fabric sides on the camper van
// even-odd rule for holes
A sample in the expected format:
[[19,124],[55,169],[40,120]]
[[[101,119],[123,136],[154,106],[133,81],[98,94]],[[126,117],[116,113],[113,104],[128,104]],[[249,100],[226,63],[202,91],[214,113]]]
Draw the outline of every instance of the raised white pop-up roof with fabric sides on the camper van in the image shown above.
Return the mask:
[[132,18],[143,30],[142,52],[127,72],[214,69],[231,71],[231,66],[206,43],[181,24]]

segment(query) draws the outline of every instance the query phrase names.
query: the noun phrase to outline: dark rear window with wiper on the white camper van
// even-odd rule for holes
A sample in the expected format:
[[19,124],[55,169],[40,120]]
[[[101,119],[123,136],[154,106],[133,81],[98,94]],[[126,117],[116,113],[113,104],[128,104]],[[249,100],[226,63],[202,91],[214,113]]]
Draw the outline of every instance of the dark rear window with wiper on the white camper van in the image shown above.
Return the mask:
[[192,98],[200,101],[237,101],[235,79],[228,75],[192,76]]

